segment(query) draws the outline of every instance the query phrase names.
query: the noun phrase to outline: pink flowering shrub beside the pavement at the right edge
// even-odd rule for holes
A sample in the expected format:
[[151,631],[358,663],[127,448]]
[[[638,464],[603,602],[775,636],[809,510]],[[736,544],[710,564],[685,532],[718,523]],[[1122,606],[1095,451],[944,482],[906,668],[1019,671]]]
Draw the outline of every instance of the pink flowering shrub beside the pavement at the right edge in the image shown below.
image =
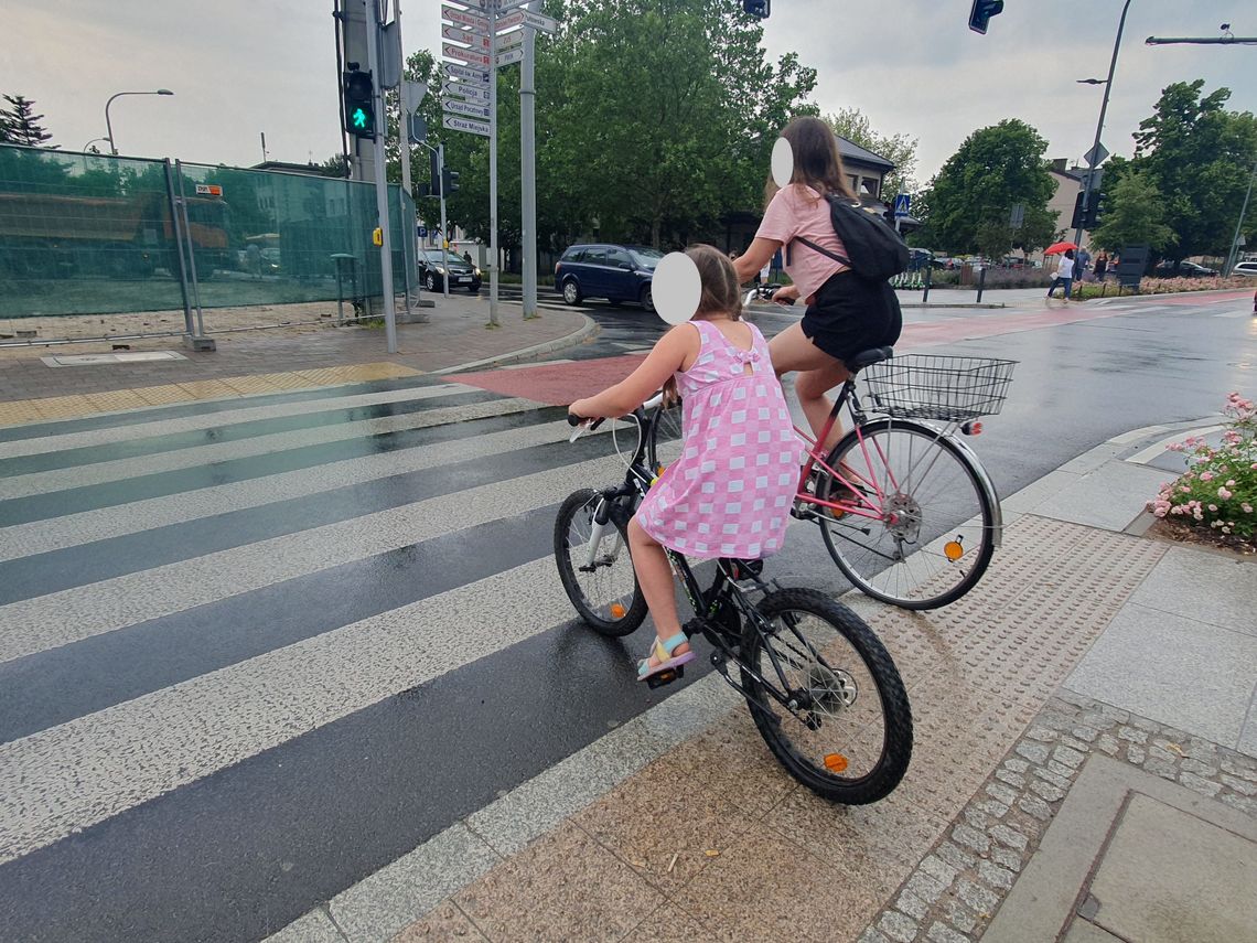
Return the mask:
[[1187,454],[1188,470],[1161,485],[1148,502],[1156,517],[1179,518],[1222,534],[1257,539],[1257,409],[1233,392],[1223,409],[1228,421],[1222,444],[1198,436],[1169,446]]

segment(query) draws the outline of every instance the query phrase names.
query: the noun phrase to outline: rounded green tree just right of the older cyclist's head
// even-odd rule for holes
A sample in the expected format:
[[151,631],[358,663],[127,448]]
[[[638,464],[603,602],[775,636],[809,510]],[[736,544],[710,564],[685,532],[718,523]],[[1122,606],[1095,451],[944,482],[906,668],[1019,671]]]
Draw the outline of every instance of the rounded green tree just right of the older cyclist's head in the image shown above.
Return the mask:
[[[923,202],[929,206],[920,239],[950,251],[982,249],[999,258],[1013,245],[1037,249],[1055,235],[1047,210],[1055,184],[1043,151],[1047,142],[1029,124],[1007,118],[974,131],[930,182]],[[1014,206],[1024,223],[1009,225]]]

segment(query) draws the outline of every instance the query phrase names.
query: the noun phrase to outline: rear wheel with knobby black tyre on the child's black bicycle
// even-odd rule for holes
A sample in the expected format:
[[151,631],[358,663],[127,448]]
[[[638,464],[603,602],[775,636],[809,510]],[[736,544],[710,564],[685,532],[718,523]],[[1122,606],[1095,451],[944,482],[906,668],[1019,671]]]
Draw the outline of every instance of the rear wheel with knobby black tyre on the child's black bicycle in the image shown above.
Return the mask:
[[[747,670],[747,664],[742,666],[747,707],[768,749],[801,785],[833,802],[860,806],[889,796],[908,772],[913,756],[913,712],[890,653],[860,616],[816,590],[778,590],[764,596],[757,610],[777,631],[771,640],[766,640],[760,629],[748,624],[743,632],[742,655],[766,679],[776,678],[772,660],[766,656],[768,645],[777,646],[778,659],[807,656],[799,651],[802,631],[797,625],[791,627],[784,619],[788,614],[796,616],[796,622],[801,622],[797,619],[801,615],[812,616],[821,626],[832,629],[836,636],[833,642],[825,642],[820,649],[808,640],[804,648],[816,658],[808,668],[806,688],[791,689],[806,714],[827,718],[818,720],[816,731],[764,693],[763,684]],[[846,655],[845,651],[852,654]],[[856,661],[860,664],[856,665]],[[870,685],[875,698],[867,690]],[[850,702],[847,695],[851,695]],[[869,710],[874,700],[882,718],[880,737],[875,727],[861,727],[862,722],[870,720]],[[841,724],[835,723],[838,718],[842,718]],[[804,742],[810,733],[823,733],[826,729],[838,734],[833,751],[825,752],[827,747]],[[851,759],[857,741],[869,743],[867,761],[864,753]],[[833,757],[842,757],[841,769]],[[852,775],[845,775],[846,771]]]

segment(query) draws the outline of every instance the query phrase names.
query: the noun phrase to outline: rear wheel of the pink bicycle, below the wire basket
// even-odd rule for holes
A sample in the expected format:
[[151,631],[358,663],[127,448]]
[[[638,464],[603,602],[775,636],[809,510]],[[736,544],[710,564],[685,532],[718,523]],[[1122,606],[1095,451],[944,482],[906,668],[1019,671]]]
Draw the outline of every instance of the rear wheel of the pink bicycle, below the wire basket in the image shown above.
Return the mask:
[[[847,433],[826,461],[866,492],[862,503],[879,514],[818,518],[830,556],[861,592],[903,609],[936,609],[982,578],[996,549],[993,495],[955,443],[926,425],[882,419]],[[851,497],[827,475],[817,490],[830,500]]]

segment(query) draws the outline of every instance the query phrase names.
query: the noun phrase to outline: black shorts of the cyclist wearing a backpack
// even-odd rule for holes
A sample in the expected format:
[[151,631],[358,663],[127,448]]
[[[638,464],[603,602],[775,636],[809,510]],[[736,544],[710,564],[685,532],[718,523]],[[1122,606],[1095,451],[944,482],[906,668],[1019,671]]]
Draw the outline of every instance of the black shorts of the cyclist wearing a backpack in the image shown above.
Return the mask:
[[838,272],[816,292],[803,312],[803,333],[831,357],[846,362],[861,351],[899,339],[904,316],[889,282]]

